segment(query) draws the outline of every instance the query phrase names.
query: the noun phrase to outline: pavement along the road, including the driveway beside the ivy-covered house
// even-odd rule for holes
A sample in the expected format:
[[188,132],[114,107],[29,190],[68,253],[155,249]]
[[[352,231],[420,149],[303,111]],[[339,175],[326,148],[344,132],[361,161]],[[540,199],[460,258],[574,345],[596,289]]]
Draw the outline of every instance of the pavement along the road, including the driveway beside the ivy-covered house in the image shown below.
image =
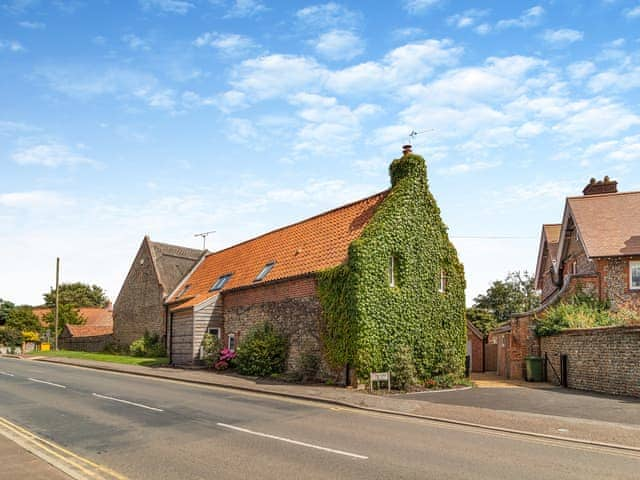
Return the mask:
[[[37,358],[37,357],[36,357]],[[140,376],[268,393],[335,405],[427,417],[489,428],[525,431],[640,448],[640,401],[608,397],[549,384],[506,381],[491,374],[474,375],[478,388],[418,394],[371,395],[327,385],[298,385],[220,374],[208,370],[140,367],[107,362],[41,357],[64,363]]]

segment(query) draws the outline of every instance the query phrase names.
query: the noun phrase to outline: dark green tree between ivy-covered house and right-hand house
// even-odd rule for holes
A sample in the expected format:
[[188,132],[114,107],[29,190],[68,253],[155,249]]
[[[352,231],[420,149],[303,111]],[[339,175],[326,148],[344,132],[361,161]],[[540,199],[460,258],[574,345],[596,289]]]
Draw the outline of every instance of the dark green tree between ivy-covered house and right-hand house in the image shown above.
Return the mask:
[[535,279],[528,272],[510,272],[504,281],[497,280],[484,295],[473,300],[475,308],[489,310],[498,323],[518,312],[528,312],[540,305]]

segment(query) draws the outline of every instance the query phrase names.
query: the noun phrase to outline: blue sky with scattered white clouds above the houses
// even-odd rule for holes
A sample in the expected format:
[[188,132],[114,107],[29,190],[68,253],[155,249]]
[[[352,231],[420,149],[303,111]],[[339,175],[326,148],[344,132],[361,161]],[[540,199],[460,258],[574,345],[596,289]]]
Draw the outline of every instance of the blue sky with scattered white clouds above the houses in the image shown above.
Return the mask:
[[591,177],[640,190],[639,91],[637,0],[0,0],[0,298],[384,190],[413,130],[471,302]]

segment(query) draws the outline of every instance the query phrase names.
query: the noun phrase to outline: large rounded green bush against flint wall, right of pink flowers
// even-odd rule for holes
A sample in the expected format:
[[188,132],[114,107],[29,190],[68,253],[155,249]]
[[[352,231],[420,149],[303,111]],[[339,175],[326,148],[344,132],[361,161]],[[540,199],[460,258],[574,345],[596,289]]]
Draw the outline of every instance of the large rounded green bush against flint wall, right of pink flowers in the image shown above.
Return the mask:
[[288,341],[270,323],[254,327],[238,348],[238,372],[266,377],[282,373],[287,359]]

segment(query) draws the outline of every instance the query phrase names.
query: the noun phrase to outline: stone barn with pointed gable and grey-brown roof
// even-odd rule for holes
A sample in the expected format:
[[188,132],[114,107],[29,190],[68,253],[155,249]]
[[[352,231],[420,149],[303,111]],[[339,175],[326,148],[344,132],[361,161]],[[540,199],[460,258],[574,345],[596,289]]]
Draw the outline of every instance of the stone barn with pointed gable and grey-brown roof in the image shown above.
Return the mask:
[[144,237],[113,307],[113,339],[117,345],[126,347],[145,331],[164,338],[164,302],[205,252]]

